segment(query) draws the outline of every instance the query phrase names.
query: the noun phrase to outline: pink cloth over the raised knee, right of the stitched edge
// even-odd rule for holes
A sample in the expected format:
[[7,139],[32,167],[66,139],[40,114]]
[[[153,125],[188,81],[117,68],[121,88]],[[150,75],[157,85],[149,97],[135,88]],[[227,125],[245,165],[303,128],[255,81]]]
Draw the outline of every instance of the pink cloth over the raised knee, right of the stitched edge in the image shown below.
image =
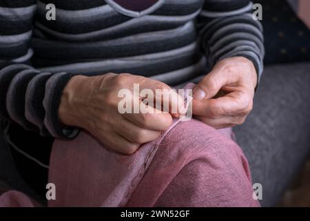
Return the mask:
[[252,193],[238,145],[192,120],[165,137],[128,206],[258,206]]

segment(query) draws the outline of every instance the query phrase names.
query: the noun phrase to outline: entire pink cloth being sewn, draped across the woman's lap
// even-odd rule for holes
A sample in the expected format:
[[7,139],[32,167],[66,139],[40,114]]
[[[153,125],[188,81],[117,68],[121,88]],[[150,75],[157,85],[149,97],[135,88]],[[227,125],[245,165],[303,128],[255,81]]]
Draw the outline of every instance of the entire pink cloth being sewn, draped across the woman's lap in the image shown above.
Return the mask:
[[[49,178],[56,200],[48,206],[259,206],[247,160],[232,138],[231,128],[216,131],[193,119],[175,120],[130,156],[107,151],[83,132],[56,140]],[[15,191],[1,200],[2,206],[32,203]]]

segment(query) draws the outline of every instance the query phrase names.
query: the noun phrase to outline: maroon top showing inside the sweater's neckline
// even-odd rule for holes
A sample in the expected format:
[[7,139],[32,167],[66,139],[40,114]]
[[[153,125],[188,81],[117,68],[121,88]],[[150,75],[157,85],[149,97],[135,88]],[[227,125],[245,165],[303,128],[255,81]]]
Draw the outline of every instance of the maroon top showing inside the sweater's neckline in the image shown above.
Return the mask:
[[125,9],[141,12],[152,7],[158,0],[114,0]]

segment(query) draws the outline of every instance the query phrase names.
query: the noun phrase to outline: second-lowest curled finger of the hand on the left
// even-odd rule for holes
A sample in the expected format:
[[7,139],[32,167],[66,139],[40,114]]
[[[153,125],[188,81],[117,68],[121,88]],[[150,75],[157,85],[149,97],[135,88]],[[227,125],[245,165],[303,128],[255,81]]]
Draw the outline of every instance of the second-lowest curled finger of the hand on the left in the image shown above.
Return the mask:
[[134,144],[145,144],[147,142],[152,142],[161,135],[161,131],[151,131],[141,128],[135,124],[132,124],[132,122],[127,119],[123,119],[120,124],[118,124],[117,128],[115,128],[115,131],[126,140]]

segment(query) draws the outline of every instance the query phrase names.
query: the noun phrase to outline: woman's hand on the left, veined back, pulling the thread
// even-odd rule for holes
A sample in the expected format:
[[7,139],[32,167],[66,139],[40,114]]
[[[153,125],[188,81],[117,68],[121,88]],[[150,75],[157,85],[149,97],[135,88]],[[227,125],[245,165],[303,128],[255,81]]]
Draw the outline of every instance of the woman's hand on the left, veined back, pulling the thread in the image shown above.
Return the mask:
[[[183,98],[172,92],[167,84],[154,79],[130,74],[106,74],[94,77],[77,75],[70,79],[63,90],[59,106],[59,118],[63,124],[78,126],[89,131],[112,151],[130,155],[138,150],[141,144],[156,140],[161,131],[172,124],[172,114],[163,111],[154,113],[125,113],[118,111],[118,92],[129,89],[133,92],[134,84],[144,88],[167,89],[172,94],[169,106]],[[133,93],[132,93],[133,94]],[[143,104],[142,104],[143,105]],[[150,106],[148,106],[150,110]],[[178,115],[178,114],[176,114]]]

